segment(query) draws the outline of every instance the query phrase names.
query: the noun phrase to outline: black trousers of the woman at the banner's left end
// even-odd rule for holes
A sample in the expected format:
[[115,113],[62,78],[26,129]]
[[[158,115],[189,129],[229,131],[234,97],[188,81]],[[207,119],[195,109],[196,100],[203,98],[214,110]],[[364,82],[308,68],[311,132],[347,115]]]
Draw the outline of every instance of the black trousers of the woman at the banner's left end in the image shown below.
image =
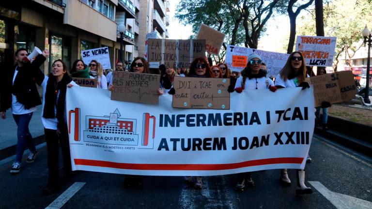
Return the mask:
[[44,129],[45,139],[47,141],[48,149],[48,185],[60,185],[60,172],[59,172],[59,146],[62,150],[63,170],[64,175],[71,175],[71,158],[70,158],[70,144],[68,141],[68,133],[63,131],[57,135],[57,130]]

